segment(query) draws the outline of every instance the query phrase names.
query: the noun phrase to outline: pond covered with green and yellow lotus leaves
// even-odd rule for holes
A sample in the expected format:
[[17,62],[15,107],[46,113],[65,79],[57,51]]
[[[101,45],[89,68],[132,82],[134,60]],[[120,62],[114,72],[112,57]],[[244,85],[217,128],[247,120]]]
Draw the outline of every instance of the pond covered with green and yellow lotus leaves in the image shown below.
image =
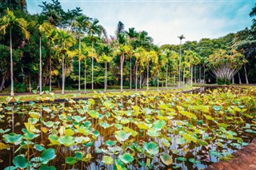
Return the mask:
[[[256,89],[0,104],[1,169],[201,169],[256,136]],[[54,95],[52,95],[54,97]]]

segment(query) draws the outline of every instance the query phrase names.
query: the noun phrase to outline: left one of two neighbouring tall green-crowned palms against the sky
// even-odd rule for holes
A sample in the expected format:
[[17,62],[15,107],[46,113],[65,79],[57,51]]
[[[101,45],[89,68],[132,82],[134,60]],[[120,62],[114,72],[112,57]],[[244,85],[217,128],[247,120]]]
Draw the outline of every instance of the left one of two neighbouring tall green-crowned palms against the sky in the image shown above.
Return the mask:
[[86,30],[90,26],[89,18],[81,15],[78,16],[74,22],[72,23],[73,29],[75,31],[75,34],[78,36],[79,41],[79,53],[78,53],[78,91],[80,91],[80,85],[81,85],[81,38],[85,34]]

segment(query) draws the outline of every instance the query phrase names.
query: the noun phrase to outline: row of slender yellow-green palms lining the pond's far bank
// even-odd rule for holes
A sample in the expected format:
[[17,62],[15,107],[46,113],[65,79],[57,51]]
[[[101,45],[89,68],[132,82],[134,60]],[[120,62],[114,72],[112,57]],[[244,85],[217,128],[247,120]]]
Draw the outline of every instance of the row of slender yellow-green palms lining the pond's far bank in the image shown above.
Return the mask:
[[[0,19],[0,31],[4,34],[10,34],[10,81],[11,92],[14,96],[14,75],[13,75],[13,58],[12,58],[12,30],[20,29],[25,38],[30,38],[27,26],[32,30],[37,30],[39,34],[39,92],[42,94],[42,38],[47,40],[47,48],[53,50],[55,55],[61,57],[62,61],[62,93],[65,93],[66,80],[66,61],[70,62],[70,58],[78,57],[78,90],[81,91],[81,61],[85,61],[84,69],[84,92],[86,93],[86,58],[91,58],[91,89],[94,90],[94,60],[104,64],[105,78],[104,90],[107,90],[107,73],[108,63],[111,61],[120,61],[120,85],[123,90],[123,66],[125,61],[130,59],[130,89],[132,88],[132,66],[135,68],[135,90],[138,88],[138,76],[140,77],[139,85],[142,85],[142,74],[146,70],[146,89],[149,89],[150,75],[157,78],[159,88],[159,74],[162,70],[166,71],[166,88],[168,87],[168,77],[170,73],[174,76],[178,75],[178,81],[186,77],[186,68],[190,68],[190,75],[193,75],[193,65],[198,64],[200,57],[194,52],[187,51],[185,56],[180,53],[170,51],[168,49],[159,49],[153,45],[153,39],[148,36],[146,31],[137,32],[134,28],[124,31],[122,22],[118,23],[118,29],[115,36],[108,37],[106,30],[98,24],[98,19],[90,19],[84,15],[78,16],[71,22],[69,29],[62,29],[53,26],[43,15],[37,15],[37,19],[27,23],[23,18],[17,18],[14,12],[8,8],[5,15]],[[9,33],[7,33],[9,30]],[[86,45],[84,38],[90,39],[90,45]],[[97,40],[100,38],[100,43]],[[178,37],[181,40],[184,36]],[[78,42],[78,49],[74,46]],[[100,50],[94,48],[95,43],[100,46]],[[51,91],[51,54],[50,53],[50,91]],[[116,58],[118,57],[118,59]],[[182,60],[183,57],[183,60]],[[115,58],[115,59],[114,59]],[[198,59],[194,59],[198,58]],[[134,65],[133,64],[134,61]],[[182,64],[182,62],[186,64]],[[138,70],[139,69],[139,70]],[[193,76],[191,76],[193,80]]]

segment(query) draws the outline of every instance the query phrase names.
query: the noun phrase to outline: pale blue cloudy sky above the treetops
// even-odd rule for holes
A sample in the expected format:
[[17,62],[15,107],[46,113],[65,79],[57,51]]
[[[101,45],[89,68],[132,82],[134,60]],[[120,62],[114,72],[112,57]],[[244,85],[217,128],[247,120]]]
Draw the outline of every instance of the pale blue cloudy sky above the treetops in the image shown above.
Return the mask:
[[[44,2],[51,2],[44,0]],[[30,14],[42,11],[42,0],[27,0]],[[249,13],[255,0],[59,0],[64,10],[80,7],[83,14],[98,18],[109,35],[118,22],[125,30],[146,30],[154,44],[178,44],[186,41],[219,38],[252,25]]]

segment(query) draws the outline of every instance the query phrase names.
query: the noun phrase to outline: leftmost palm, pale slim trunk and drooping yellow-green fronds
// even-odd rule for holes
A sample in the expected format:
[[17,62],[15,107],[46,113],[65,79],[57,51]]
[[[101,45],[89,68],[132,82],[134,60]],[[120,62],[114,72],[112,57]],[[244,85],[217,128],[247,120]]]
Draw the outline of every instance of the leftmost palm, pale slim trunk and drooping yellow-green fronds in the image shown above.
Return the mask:
[[13,69],[13,47],[12,47],[12,30],[20,29],[25,35],[25,38],[30,37],[29,32],[26,30],[27,22],[23,18],[17,18],[12,10],[7,8],[5,15],[0,18],[0,33],[5,35],[6,30],[10,34],[10,96],[14,96],[14,69]]

